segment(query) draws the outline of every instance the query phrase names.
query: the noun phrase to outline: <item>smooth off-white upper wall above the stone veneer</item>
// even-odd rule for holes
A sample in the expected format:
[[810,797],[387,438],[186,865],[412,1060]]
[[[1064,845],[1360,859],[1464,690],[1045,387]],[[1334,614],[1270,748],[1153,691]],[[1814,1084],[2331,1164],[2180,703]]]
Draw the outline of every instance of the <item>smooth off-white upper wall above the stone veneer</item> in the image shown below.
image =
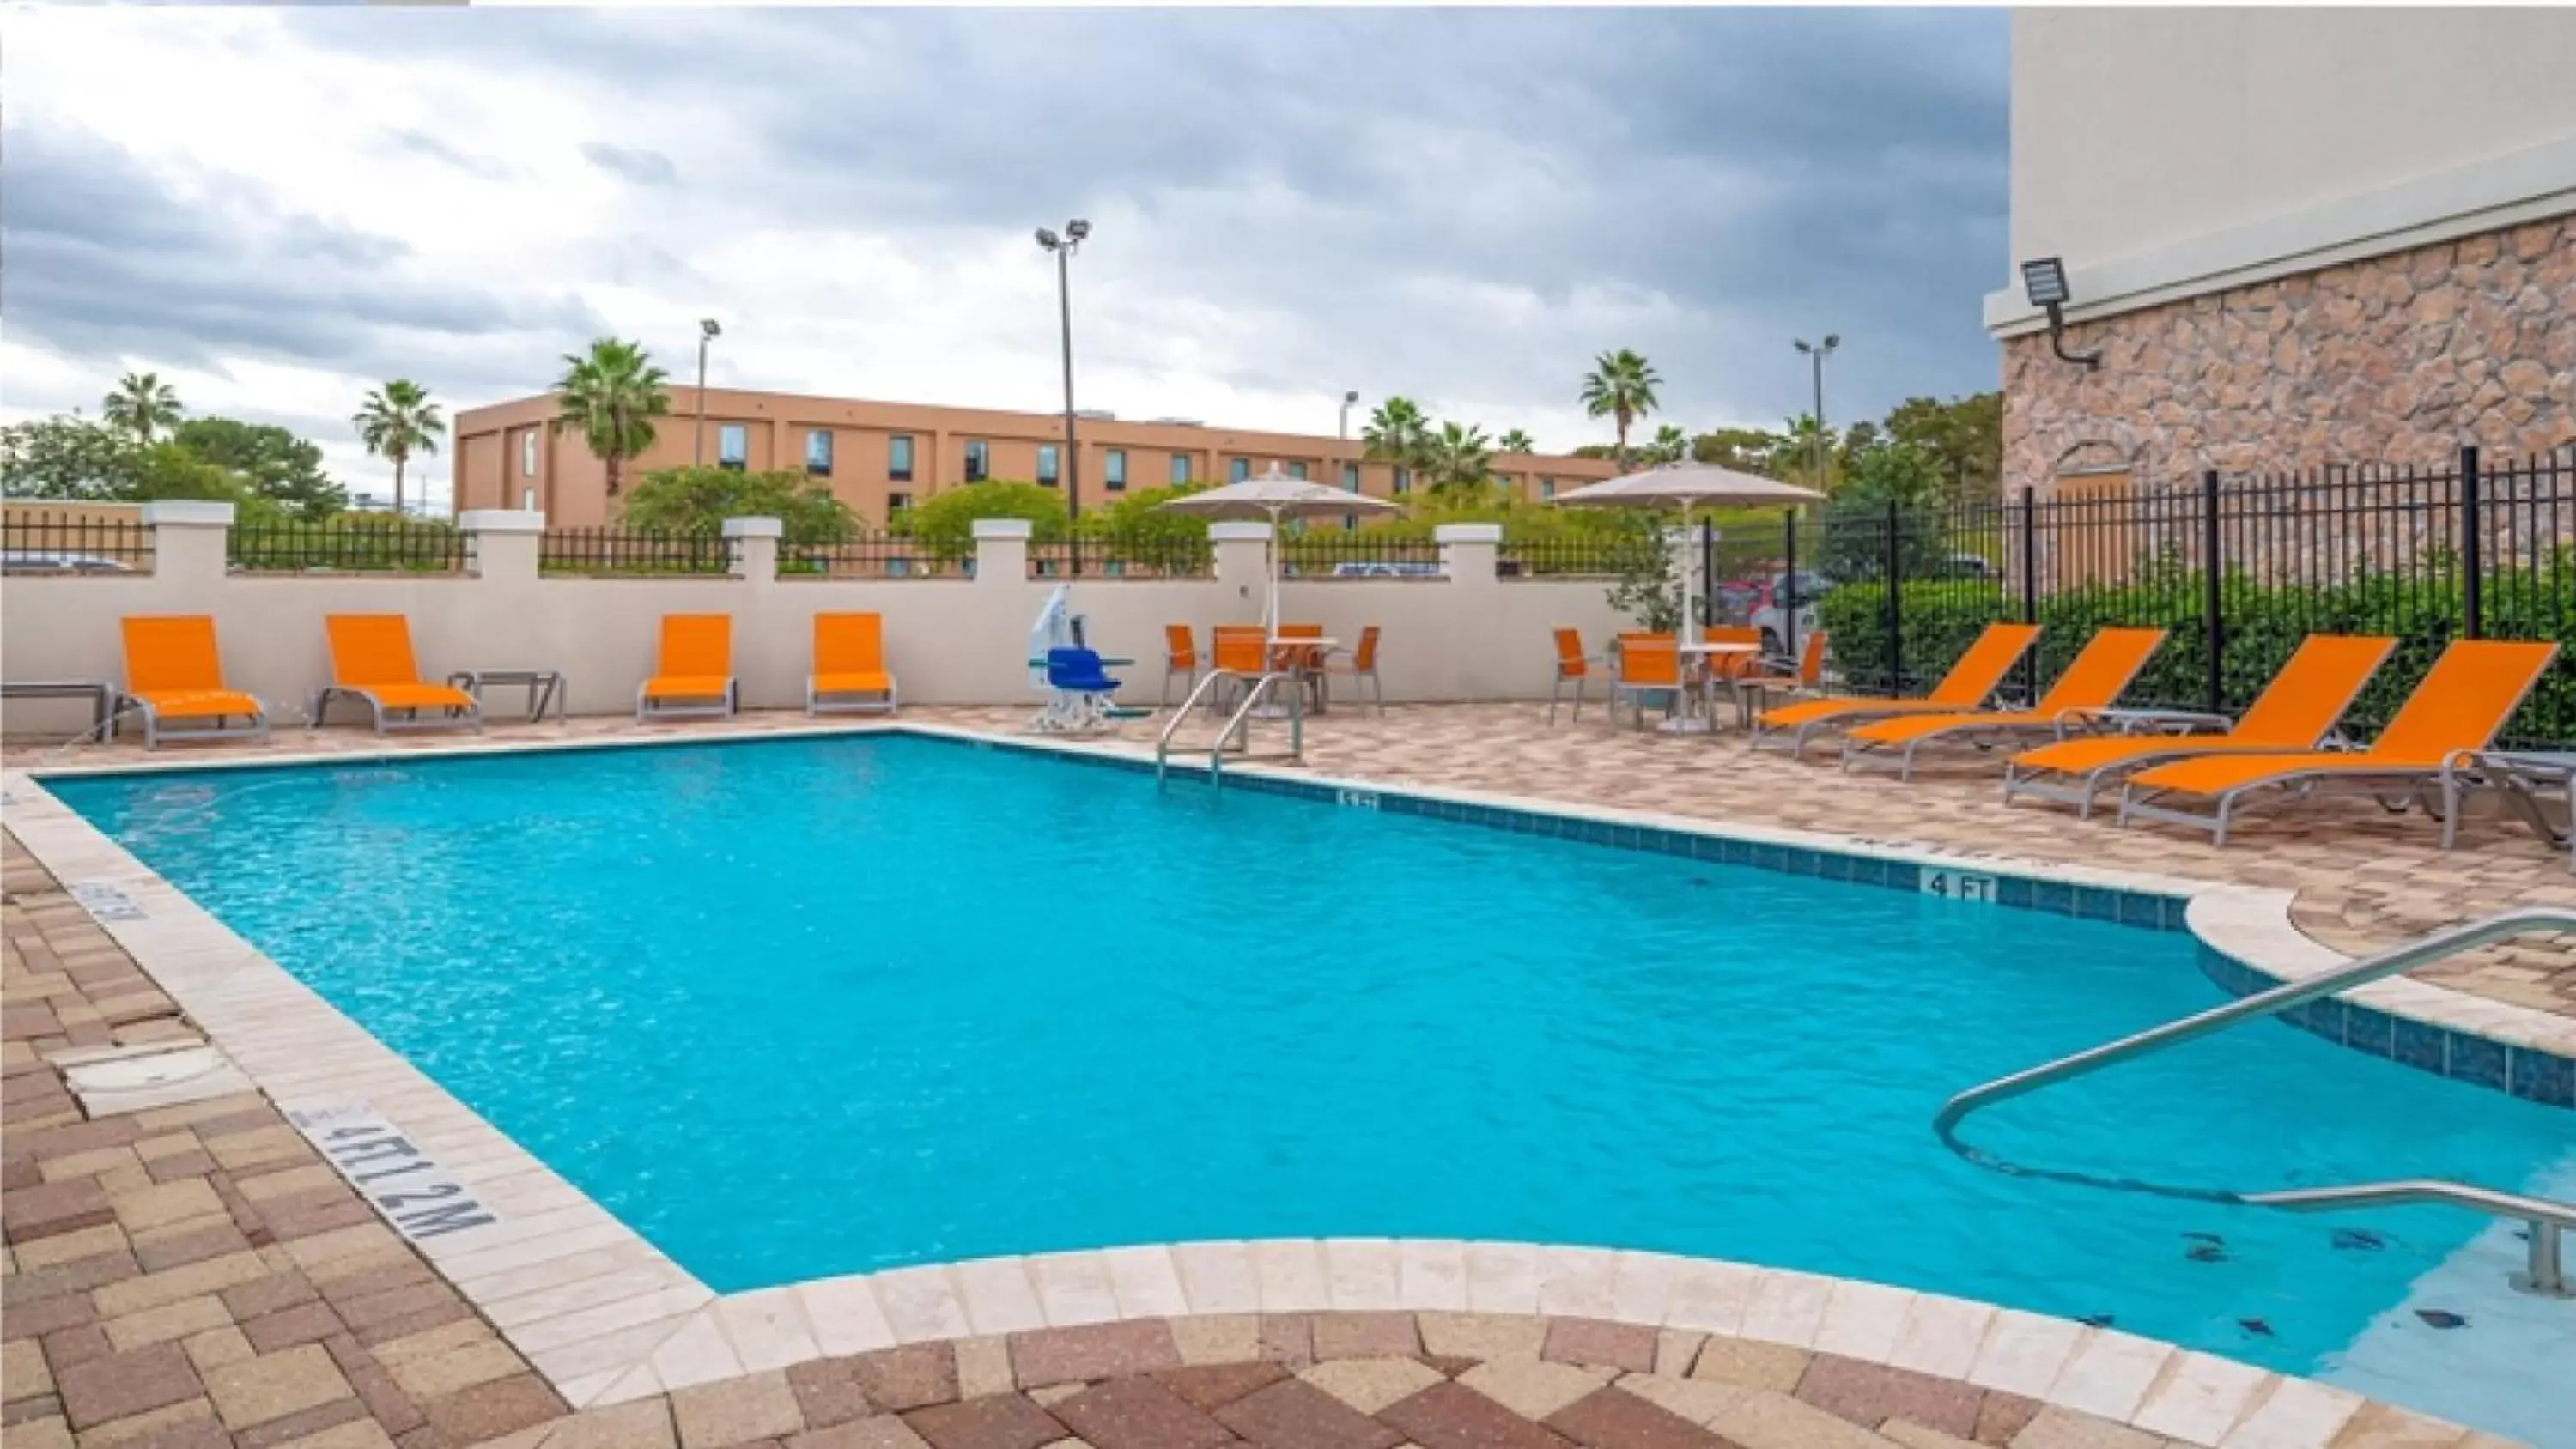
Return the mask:
[[2576,208],[2571,75],[2576,8],[2017,10],[1986,322],[2027,257],[2087,317]]

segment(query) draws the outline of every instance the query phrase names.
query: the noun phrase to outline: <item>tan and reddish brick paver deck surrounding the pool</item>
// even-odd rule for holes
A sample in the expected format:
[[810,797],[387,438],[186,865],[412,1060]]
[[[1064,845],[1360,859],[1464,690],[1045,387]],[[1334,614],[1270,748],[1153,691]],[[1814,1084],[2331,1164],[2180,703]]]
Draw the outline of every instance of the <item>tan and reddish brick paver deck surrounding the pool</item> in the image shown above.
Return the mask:
[[[953,723],[1020,713],[925,710]],[[760,715],[744,728],[801,723]],[[623,731],[595,721],[574,731]],[[554,736],[556,731],[528,731]],[[654,734],[667,734],[659,728]],[[309,739],[283,739],[312,746]],[[348,731],[332,749],[376,749]],[[402,741],[422,746],[435,741]],[[1334,715],[1311,762],[1468,785],[1850,829],[2040,860],[2226,872],[2303,891],[2308,924],[2370,945],[2517,898],[2571,901],[2501,829],[2442,857],[2421,821],[2249,831],[2210,852],[2022,811],[1984,785],[1891,788],[1705,739],[1546,731],[1525,708]],[[90,752],[95,759],[98,752]],[[10,762],[26,762],[13,752]],[[2342,844],[2336,844],[2342,842]],[[2352,842],[2362,842],[2354,847]],[[2365,865],[2352,865],[2354,860]],[[322,1163],[260,1094],[85,1120],[52,1055],[193,1035],[160,988],[5,839],[0,911],[0,1426],[10,1449],[2161,1449],[2246,1441],[2486,1449],[2306,1385],[2166,1434],[1958,1380],[1777,1343],[1579,1318],[1298,1313],[1131,1320],[796,1364],[616,1408],[554,1390]],[[2385,865],[2385,867],[2383,867]],[[2329,903],[2331,901],[2331,903]],[[2548,945],[2473,988],[2571,1009]],[[2509,963],[2496,963],[2509,965]]]

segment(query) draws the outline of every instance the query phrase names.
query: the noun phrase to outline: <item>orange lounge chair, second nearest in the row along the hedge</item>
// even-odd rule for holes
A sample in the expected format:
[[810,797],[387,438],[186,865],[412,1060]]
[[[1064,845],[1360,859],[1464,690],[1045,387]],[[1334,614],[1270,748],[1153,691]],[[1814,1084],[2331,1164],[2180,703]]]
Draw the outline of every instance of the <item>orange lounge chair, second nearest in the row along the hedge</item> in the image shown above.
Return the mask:
[[[2094,793],[2130,770],[2202,754],[2316,749],[2396,646],[2396,638],[2378,633],[2311,633],[2226,734],[2110,734],[2025,749],[2004,767],[2004,803],[2009,806],[2014,795],[2038,795],[2066,800],[2081,818],[2092,818]],[[2123,710],[2120,723],[2192,728],[2226,726],[2226,715]]]

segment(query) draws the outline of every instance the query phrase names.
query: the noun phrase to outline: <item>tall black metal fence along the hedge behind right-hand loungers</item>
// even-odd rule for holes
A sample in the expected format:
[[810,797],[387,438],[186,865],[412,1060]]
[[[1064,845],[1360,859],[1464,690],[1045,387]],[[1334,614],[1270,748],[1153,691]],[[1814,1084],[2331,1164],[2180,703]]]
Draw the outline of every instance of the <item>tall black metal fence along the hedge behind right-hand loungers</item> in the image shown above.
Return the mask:
[[2097,628],[2169,636],[2133,705],[2239,713],[2308,633],[2385,633],[2391,661],[2347,713],[2367,736],[2452,638],[2548,638],[2561,654],[2504,744],[2576,746],[2576,458],[2429,468],[2202,474],[2136,486],[2063,479],[1989,504],[1826,515],[1728,530],[1710,618],[1795,649],[1832,631],[1842,677],[1922,692],[1996,620],[2043,625],[2035,697]]

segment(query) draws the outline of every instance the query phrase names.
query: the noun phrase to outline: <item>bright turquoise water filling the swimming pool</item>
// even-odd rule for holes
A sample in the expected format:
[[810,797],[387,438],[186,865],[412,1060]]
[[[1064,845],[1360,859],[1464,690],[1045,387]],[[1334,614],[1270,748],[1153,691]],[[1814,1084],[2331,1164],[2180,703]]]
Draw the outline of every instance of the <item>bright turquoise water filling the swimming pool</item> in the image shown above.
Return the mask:
[[[2313,1372],[2483,1225],[2107,1194],[1935,1143],[1947,1094],[2218,1001],[2179,932],[927,739],[54,790],[719,1289],[1525,1238]],[[2264,1022],[1973,1135],[2190,1184],[2522,1186],[2576,1127]]]

